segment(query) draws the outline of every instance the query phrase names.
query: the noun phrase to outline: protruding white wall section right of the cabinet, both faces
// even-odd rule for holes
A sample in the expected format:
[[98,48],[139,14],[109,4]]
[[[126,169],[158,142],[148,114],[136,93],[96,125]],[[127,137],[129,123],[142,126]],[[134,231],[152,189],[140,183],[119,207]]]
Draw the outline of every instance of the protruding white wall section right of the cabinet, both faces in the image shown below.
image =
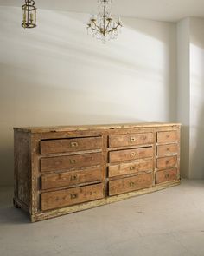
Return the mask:
[[182,176],[204,178],[204,19],[177,24],[178,115],[182,122]]

